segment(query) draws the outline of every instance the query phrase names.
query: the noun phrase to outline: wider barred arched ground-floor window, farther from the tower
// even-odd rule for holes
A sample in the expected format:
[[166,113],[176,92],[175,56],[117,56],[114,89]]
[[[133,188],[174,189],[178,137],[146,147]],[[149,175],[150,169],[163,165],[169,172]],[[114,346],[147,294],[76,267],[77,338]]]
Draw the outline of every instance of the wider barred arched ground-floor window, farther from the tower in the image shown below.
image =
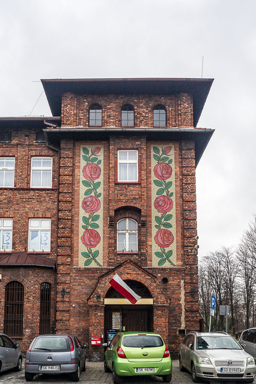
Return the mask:
[[5,286],[4,329],[9,336],[22,336],[23,333],[24,286],[18,281],[10,281]]

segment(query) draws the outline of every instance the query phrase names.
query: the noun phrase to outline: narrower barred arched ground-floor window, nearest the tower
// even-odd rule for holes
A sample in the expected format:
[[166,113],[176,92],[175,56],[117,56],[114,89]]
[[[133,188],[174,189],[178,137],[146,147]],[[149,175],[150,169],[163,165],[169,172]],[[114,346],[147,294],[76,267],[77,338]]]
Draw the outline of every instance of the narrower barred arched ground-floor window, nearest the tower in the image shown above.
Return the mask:
[[39,334],[50,333],[51,315],[51,284],[42,283],[40,286],[40,321]]

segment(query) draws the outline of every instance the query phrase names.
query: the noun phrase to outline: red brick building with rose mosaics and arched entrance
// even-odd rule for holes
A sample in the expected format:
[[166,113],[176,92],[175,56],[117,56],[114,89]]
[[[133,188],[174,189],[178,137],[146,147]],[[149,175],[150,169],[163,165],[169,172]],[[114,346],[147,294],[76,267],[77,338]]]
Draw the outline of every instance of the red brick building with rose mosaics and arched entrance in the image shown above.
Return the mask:
[[[42,80],[54,117],[0,118],[0,331],[199,329],[196,128],[212,79]],[[109,285],[118,275],[135,306]]]

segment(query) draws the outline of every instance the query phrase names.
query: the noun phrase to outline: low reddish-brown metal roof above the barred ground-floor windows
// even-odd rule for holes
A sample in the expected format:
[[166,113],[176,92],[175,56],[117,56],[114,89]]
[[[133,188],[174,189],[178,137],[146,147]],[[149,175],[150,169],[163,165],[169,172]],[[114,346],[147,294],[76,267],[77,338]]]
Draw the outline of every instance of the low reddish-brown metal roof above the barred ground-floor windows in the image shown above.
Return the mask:
[[56,262],[48,257],[27,252],[3,253],[0,266],[43,266],[56,269]]

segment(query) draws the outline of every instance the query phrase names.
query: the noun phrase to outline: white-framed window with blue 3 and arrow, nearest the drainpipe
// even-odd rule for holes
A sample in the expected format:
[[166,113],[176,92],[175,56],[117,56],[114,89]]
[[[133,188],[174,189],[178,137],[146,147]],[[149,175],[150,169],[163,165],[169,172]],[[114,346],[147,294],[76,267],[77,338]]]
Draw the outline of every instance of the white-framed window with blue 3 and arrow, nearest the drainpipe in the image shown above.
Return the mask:
[[50,251],[51,219],[30,218],[28,223],[28,250]]

